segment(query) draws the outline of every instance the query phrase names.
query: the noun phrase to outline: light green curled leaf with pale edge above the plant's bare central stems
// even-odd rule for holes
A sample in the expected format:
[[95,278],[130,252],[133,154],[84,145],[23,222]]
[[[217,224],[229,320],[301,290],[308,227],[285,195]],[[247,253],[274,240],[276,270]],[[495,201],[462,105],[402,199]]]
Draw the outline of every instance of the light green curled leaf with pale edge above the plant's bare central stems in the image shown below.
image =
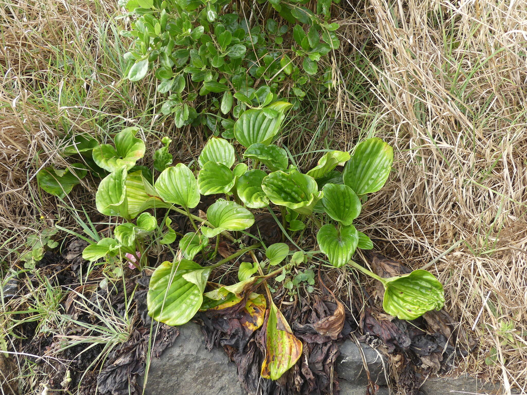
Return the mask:
[[223,231],[244,230],[255,223],[255,217],[249,210],[238,203],[225,200],[219,200],[209,207],[207,220],[214,226],[214,229],[201,226],[201,232],[208,238],[213,238]]

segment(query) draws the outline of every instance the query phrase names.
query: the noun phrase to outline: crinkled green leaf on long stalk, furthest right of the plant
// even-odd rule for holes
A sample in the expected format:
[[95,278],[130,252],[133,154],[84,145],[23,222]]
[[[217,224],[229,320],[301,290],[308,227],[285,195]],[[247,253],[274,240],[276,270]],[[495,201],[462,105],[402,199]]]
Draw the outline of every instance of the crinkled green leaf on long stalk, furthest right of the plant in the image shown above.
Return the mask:
[[443,285],[426,270],[383,279],[383,309],[400,320],[415,320],[430,310],[441,310],[445,304]]

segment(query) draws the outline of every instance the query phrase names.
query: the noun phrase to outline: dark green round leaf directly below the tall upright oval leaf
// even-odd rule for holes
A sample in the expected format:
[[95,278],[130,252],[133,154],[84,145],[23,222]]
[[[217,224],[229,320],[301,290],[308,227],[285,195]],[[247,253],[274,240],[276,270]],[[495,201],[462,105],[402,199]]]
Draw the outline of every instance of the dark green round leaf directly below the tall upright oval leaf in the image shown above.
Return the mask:
[[324,211],[335,221],[347,226],[360,214],[360,199],[347,185],[326,184],[320,200]]

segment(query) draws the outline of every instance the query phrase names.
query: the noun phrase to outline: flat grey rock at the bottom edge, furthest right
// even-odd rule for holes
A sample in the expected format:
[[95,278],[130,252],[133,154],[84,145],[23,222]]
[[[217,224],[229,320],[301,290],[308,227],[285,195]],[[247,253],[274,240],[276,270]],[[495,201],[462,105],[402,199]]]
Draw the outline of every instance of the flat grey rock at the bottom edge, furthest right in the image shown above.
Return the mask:
[[[468,374],[463,374],[456,378],[436,377],[428,378],[421,386],[421,391],[425,395],[445,395],[452,393],[478,393],[478,394],[495,394],[503,393],[500,389],[500,384],[487,383],[484,384],[482,380],[474,379]],[[519,393],[514,390],[511,393]]]

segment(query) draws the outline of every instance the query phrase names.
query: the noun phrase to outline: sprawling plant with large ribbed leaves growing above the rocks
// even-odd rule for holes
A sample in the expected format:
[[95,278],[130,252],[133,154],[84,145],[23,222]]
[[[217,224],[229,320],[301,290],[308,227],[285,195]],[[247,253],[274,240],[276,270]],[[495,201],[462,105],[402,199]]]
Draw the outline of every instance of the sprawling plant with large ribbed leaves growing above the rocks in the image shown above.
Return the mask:
[[[290,107],[288,102],[275,101],[244,112],[233,125],[236,142],[245,149],[241,156],[235,154],[231,141],[212,136],[192,167],[183,163],[171,166],[170,140],[163,139],[164,147],[154,154],[153,160],[157,177],[153,177],[150,169],[137,165],[145,153],[145,144],[135,136],[138,132],[135,128],[116,134],[113,145],[95,146],[93,160],[111,172],[97,189],[97,210],[122,218],[123,222],[115,227],[112,238],[87,246],[83,253],[90,261],[120,256],[142,267],[148,256],[143,242],[146,235],[161,244],[173,243],[178,235],[171,228],[170,218],[165,217],[159,226],[150,211],[155,214],[155,209],[164,208],[187,215],[194,232],[181,235],[179,240],[184,258],[163,262],[153,273],[147,298],[149,314],[155,320],[180,325],[200,309],[221,309],[249,300],[259,306],[256,310],[250,305],[246,307],[251,322],[258,323],[251,330],[257,330],[264,325],[258,314],[265,298],[254,291],[264,285],[270,303],[264,325],[270,359],[262,365],[261,374],[274,379],[296,363],[301,342],[288,330],[287,321],[272,303],[267,280],[276,277],[279,282],[285,281],[282,285],[290,297],[301,284],[311,292],[315,282],[311,261],[317,255],[325,264],[337,268],[350,265],[380,281],[385,288],[384,310],[400,319],[415,319],[428,310],[441,309],[444,304],[441,283],[427,271],[383,279],[352,260],[357,248],[373,248],[372,241],[356,229],[354,221],[367,194],[378,191],[386,182],[393,161],[392,147],[377,138],[367,139],[351,153],[327,151],[312,169],[302,173],[289,163],[287,151],[273,144]],[[337,166],[344,166],[343,173],[336,170]],[[206,218],[190,213],[199,204],[201,195],[212,194],[223,197],[209,206]],[[247,230],[255,222],[251,210],[272,211],[270,204],[280,209],[284,224],[288,223],[286,232],[304,229],[308,218],[320,224],[316,225],[317,242],[325,259],[320,251],[292,253],[285,243],[266,247],[256,242],[211,265],[193,261],[198,254],[203,263],[214,259],[220,238],[236,241],[233,232]],[[238,283],[205,292],[214,268],[260,247],[266,248],[266,259],[258,262],[253,255],[253,262],[240,263]],[[249,299],[245,298],[247,294]],[[281,322],[282,329],[275,328],[272,322]],[[286,355],[280,350],[289,351]]]

